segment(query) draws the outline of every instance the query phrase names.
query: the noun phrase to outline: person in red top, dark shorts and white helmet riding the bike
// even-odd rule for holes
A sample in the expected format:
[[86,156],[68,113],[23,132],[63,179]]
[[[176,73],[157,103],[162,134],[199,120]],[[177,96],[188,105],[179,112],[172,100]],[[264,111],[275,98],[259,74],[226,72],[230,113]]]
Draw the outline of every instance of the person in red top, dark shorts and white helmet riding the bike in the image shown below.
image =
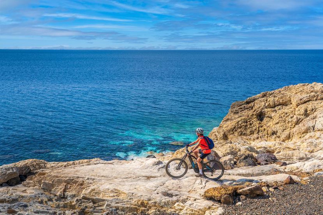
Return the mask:
[[[197,128],[195,130],[197,135],[197,140],[194,142],[191,142],[190,144],[187,144],[186,146],[191,146],[197,143],[197,145],[192,149],[191,153],[193,152],[195,158],[197,158],[197,166],[199,167],[199,174],[196,174],[196,177],[202,177],[202,164],[201,161],[208,156],[211,153],[211,149],[209,148],[207,142],[205,141],[205,137],[203,135],[203,128]],[[198,157],[197,154],[200,154],[200,157]]]

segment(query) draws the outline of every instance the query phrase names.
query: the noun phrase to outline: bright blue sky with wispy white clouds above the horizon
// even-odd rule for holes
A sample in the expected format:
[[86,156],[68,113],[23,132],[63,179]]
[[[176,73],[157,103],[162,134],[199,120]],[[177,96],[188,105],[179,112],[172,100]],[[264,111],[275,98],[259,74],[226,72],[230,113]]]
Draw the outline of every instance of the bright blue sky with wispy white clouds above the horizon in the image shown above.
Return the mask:
[[0,2],[2,49],[323,49],[321,0]]

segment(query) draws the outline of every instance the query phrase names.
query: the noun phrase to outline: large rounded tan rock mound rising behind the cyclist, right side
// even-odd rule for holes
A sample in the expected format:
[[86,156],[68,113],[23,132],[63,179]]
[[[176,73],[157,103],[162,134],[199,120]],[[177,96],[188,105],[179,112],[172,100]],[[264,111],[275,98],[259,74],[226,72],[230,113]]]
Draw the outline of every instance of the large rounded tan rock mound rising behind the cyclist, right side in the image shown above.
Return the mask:
[[220,156],[249,151],[306,161],[323,151],[323,84],[297,84],[231,105],[210,132]]

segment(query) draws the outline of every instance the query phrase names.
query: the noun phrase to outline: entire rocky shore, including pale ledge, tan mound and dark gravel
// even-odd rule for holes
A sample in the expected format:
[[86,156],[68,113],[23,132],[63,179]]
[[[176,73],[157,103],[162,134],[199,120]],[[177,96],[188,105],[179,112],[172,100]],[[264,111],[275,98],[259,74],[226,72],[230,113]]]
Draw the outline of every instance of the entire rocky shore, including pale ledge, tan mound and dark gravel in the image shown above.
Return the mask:
[[209,137],[226,169],[218,181],[193,170],[168,177],[165,164],[183,149],[133,161],[2,165],[0,214],[323,214],[322,83],[233,103]]

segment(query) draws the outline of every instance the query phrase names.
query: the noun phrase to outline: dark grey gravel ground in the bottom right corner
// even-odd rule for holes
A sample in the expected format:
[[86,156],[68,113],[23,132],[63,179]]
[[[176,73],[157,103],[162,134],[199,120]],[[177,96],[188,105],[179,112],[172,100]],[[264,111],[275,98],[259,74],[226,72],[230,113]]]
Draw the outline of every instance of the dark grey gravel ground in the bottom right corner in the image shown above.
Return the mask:
[[257,199],[246,199],[241,205],[224,205],[223,215],[323,215],[323,176],[283,188]]

